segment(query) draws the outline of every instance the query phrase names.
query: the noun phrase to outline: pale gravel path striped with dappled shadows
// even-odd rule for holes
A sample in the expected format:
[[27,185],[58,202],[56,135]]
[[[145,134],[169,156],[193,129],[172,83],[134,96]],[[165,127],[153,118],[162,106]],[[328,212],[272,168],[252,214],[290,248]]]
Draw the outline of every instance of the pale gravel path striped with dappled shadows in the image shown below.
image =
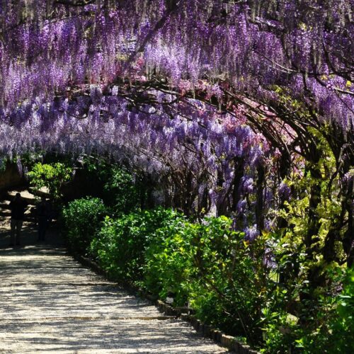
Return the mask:
[[67,255],[55,229],[36,243],[30,222],[12,249],[0,214],[1,353],[226,353]]

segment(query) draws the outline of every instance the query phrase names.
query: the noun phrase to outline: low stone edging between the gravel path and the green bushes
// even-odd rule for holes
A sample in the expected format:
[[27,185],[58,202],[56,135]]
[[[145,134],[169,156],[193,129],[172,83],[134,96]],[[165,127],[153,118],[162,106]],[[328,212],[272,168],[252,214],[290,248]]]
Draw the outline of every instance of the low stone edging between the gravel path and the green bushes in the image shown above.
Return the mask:
[[[82,265],[88,266],[99,275],[103,275],[107,280],[111,280],[108,276],[108,273],[105,272],[105,270],[103,270],[91,258],[75,254],[74,252],[72,252],[72,256],[76,259],[76,261],[79,261]],[[227,334],[223,333],[222,331],[219,331],[213,328],[212,326],[203,323],[192,314],[184,314],[178,309],[171,307],[171,305],[161,301],[160,299],[154,299],[151,295],[144,292],[144,290],[135,287],[134,285],[124,284],[124,286],[128,291],[139,292],[139,294],[141,294],[143,297],[152,302],[159,309],[159,311],[163,312],[166,316],[176,316],[180,319],[183,319],[183,321],[187,321],[193,326],[195,331],[202,334],[202,336],[211,338],[220,346],[232,350],[232,352],[234,352],[235,354],[261,354],[257,350],[253,350],[250,346],[247,346],[245,343],[237,341],[236,338],[234,338],[233,336],[227,336]]]

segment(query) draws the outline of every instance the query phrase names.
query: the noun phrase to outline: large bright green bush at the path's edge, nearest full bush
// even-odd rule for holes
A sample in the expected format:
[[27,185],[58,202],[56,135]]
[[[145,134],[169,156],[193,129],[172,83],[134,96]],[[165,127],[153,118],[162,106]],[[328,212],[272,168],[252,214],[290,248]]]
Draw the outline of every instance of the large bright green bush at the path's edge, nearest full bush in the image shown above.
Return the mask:
[[175,219],[147,250],[144,285],[163,299],[173,292],[176,304],[188,302],[200,319],[252,340],[266,295],[264,242],[244,241],[227,217]]

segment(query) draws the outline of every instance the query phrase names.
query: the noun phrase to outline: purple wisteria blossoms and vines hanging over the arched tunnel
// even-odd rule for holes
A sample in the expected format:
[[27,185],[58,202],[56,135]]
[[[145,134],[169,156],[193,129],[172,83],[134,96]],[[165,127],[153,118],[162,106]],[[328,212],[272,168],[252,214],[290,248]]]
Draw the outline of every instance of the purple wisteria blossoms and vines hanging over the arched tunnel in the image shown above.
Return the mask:
[[[165,173],[176,204],[243,215],[260,232],[267,208],[288,198],[297,156],[319,175],[321,135],[354,234],[353,5],[2,1],[0,152],[129,158]],[[309,193],[316,219],[319,188]]]

